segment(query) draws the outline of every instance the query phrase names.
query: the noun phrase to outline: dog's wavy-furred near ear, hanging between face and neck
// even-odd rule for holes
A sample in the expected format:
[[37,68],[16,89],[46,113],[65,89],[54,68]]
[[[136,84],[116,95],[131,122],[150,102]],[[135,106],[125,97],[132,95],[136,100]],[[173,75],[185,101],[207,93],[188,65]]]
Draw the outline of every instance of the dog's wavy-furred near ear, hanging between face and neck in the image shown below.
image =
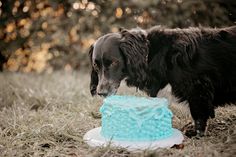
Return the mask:
[[148,41],[142,30],[121,30],[120,50],[128,73],[127,85],[142,89],[147,79]]

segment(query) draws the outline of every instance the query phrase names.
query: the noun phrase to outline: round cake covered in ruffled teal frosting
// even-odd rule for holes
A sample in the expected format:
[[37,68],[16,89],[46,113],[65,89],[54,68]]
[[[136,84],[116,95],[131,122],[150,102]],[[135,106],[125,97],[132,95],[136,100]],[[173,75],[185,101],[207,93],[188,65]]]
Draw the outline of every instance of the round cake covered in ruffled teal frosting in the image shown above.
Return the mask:
[[147,141],[172,135],[172,113],[164,98],[110,96],[104,99],[101,135],[112,140]]

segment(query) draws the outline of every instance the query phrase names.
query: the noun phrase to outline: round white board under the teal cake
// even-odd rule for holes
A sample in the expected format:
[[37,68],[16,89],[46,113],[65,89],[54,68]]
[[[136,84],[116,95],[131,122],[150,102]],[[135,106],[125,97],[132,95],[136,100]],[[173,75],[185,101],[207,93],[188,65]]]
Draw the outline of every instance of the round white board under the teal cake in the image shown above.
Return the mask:
[[129,151],[154,150],[157,148],[170,148],[175,144],[181,144],[184,140],[182,133],[174,129],[173,135],[156,141],[131,142],[131,141],[114,141],[107,140],[100,134],[101,127],[94,128],[84,135],[84,141],[91,147],[110,145],[112,147],[126,148]]

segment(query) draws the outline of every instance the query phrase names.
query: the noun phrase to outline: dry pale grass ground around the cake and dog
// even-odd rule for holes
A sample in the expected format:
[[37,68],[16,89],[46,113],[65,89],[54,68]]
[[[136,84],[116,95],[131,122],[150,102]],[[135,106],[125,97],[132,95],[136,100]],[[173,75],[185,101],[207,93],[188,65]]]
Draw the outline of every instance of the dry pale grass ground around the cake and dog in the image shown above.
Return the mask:
[[[0,74],[0,156],[233,156],[236,154],[236,106],[216,110],[205,137],[187,138],[182,149],[132,153],[119,148],[91,148],[83,135],[100,126],[102,99],[89,94],[87,72]],[[143,95],[121,86],[119,93]],[[187,105],[171,102],[173,125],[191,122]]]

